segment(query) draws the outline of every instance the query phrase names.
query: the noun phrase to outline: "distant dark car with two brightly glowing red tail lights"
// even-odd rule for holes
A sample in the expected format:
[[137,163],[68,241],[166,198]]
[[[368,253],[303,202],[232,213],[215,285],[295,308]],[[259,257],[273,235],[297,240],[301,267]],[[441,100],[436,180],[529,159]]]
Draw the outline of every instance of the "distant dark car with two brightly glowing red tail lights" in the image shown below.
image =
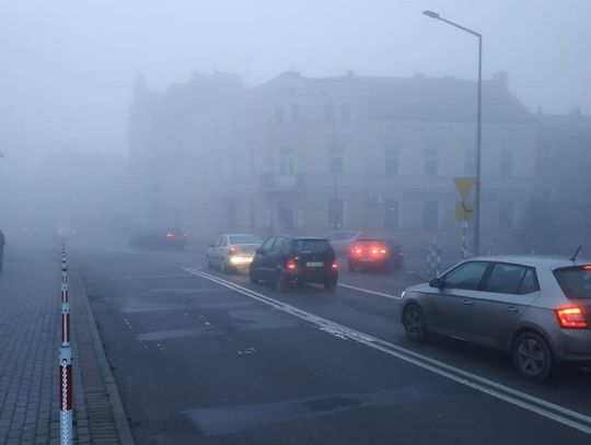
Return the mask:
[[404,266],[402,247],[390,238],[357,238],[347,254],[347,266],[350,272],[358,269],[385,271],[402,269]]

